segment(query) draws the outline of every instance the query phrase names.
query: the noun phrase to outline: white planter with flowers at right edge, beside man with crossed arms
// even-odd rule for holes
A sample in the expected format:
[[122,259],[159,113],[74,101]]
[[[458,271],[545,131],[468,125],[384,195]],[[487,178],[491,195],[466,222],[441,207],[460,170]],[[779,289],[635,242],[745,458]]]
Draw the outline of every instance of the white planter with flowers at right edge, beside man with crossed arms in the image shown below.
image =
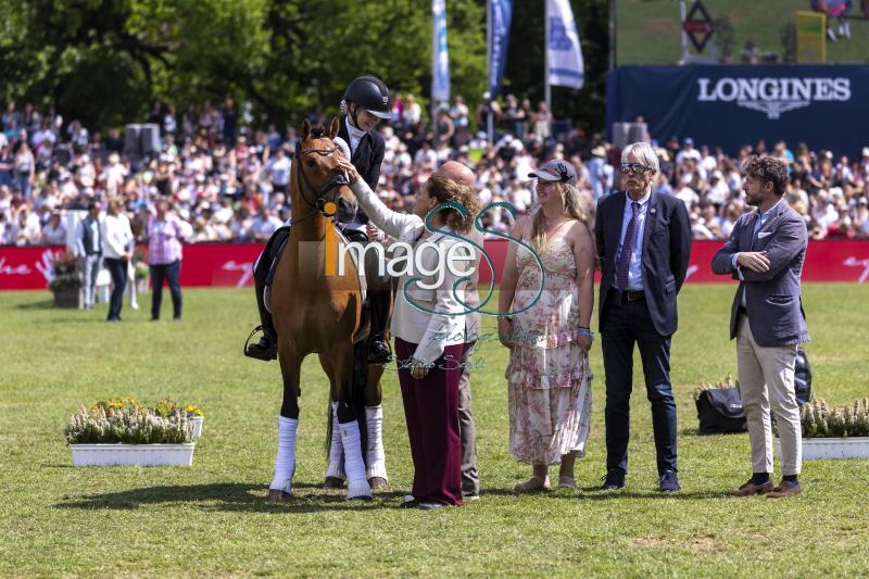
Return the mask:
[[[869,458],[869,399],[830,407],[811,400],[799,410],[803,458]],[[776,439],[781,453],[781,443]]]

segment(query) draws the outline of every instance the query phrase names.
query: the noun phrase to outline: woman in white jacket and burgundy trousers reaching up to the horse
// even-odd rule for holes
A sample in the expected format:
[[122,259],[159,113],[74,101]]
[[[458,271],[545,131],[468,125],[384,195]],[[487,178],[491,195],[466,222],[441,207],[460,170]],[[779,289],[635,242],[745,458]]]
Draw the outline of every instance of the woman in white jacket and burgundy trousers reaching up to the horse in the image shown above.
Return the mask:
[[[479,211],[474,189],[432,175],[416,196],[414,213],[403,214],[388,209],[351,163],[341,159],[339,164],[368,218],[406,244],[405,251],[408,246],[412,253],[398,276],[392,314],[399,381],[414,461],[413,498],[404,505],[461,505],[458,380],[468,309],[463,305],[464,285],[455,285],[470,275],[475,253],[473,246],[444,231],[462,236],[470,230]],[[430,218],[439,231],[428,231],[426,216],[445,202],[464,206],[467,214],[442,209]],[[406,266],[412,262],[418,264],[418,270]]]

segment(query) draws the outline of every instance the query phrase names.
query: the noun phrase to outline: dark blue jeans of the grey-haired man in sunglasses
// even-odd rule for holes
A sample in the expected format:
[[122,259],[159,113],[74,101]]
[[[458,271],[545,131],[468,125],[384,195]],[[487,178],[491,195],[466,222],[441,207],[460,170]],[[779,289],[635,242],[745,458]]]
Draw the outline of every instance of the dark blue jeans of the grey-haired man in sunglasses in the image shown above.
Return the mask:
[[676,471],[676,401],[670,385],[670,336],[655,329],[644,300],[612,303],[602,313],[606,373],[606,468],[628,471],[633,345],[640,345],[646,397],[652,403],[658,475]]

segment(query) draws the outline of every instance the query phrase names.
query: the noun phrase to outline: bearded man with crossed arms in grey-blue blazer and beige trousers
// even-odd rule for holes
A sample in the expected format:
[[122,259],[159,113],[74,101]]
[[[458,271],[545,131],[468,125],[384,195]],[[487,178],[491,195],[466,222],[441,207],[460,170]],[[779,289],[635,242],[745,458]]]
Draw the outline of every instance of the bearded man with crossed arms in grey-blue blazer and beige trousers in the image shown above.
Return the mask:
[[[807,342],[799,276],[808,236],[803,218],[782,199],[788,168],[779,159],[745,162],[743,189],[756,211],[736,221],[727,243],[713,259],[713,272],[740,281],[730,313],[736,339],[740,395],[748,421],[752,478],[732,494],[778,499],[801,491],[799,407],[794,393],[796,347]],[[770,410],[781,439],[782,481],[773,487]]]

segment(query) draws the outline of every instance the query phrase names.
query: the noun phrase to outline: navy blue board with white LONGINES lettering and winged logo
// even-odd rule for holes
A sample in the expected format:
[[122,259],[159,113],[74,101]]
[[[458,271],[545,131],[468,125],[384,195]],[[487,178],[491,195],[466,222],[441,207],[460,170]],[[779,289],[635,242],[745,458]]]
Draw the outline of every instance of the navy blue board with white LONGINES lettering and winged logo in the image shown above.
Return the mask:
[[642,116],[659,142],[691,137],[734,154],[784,140],[849,159],[869,144],[869,66],[624,66],[606,93],[607,130]]

